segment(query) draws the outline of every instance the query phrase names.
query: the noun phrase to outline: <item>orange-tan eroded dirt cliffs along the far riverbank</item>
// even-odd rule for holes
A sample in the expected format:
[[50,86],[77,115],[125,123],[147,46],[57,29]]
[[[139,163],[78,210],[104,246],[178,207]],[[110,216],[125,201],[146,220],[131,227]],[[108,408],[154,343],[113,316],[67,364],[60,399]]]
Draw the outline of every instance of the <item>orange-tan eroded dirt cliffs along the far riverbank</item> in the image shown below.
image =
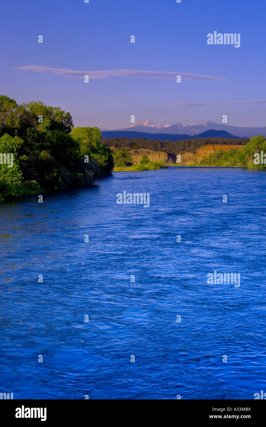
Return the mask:
[[[219,144],[209,144],[204,145],[197,149],[196,153],[185,152],[181,153],[165,153],[163,151],[152,151],[146,150],[144,148],[138,148],[137,150],[129,150],[127,151],[132,158],[133,164],[140,164],[140,160],[142,159],[143,154],[145,154],[150,161],[164,161],[166,164],[176,163],[176,156],[181,156],[181,162],[178,163],[180,165],[186,165],[191,163],[199,163],[203,157],[208,157],[210,153],[214,153],[218,150],[229,151],[233,149],[241,149],[243,145],[219,145]],[[116,149],[114,147],[110,147],[111,152],[115,152]]]

